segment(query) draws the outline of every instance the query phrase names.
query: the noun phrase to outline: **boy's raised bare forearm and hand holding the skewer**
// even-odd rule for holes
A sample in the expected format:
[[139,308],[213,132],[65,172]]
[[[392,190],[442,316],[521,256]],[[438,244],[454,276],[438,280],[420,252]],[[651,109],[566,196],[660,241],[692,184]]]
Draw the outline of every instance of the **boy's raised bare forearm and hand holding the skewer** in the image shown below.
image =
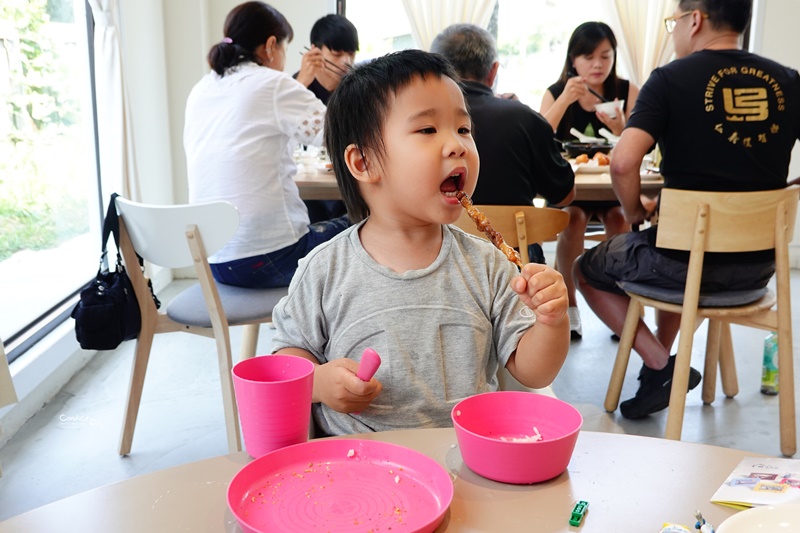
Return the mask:
[[569,351],[567,288],[564,278],[546,265],[528,263],[511,281],[514,292],[536,314],[506,369],[517,381],[534,389],[553,382]]

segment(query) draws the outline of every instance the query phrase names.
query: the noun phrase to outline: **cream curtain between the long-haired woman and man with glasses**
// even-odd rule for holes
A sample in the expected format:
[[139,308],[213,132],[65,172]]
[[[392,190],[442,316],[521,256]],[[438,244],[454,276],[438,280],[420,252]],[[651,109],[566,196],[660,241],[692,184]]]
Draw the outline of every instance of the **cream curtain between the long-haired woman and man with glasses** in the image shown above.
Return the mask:
[[650,72],[673,56],[672,38],[664,29],[664,18],[675,10],[675,0],[606,0],[617,37],[617,59],[639,87]]

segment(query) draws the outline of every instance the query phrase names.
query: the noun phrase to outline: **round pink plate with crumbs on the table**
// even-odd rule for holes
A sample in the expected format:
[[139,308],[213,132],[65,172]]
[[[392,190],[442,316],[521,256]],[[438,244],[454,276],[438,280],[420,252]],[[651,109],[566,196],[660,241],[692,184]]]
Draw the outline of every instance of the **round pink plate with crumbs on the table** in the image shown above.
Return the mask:
[[439,463],[371,440],[281,448],[242,468],[228,486],[228,506],[247,533],[432,532],[452,500],[453,482]]

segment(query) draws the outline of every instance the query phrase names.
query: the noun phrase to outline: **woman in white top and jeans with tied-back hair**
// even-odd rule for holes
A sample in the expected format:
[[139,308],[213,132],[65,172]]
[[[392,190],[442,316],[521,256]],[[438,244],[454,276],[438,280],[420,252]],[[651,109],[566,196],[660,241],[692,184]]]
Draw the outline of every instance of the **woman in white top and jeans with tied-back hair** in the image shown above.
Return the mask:
[[292,151],[321,144],[325,106],[283,73],[292,37],[273,7],[235,7],[208,53],[212,71],[186,103],[189,200],[226,200],[239,210],[236,235],[210,258],[221,283],[288,286],[299,259],[350,225],[346,216],[310,224],[294,183]]

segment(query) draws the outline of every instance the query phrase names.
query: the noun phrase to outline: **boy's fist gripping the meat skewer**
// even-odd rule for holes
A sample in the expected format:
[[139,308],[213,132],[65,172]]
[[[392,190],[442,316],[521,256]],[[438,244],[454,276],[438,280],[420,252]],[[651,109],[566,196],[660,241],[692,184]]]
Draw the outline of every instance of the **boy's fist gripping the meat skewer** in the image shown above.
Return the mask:
[[511,280],[511,288],[536,314],[536,321],[557,326],[566,320],[567,286],[564,278],[547,265],[528,263]]

